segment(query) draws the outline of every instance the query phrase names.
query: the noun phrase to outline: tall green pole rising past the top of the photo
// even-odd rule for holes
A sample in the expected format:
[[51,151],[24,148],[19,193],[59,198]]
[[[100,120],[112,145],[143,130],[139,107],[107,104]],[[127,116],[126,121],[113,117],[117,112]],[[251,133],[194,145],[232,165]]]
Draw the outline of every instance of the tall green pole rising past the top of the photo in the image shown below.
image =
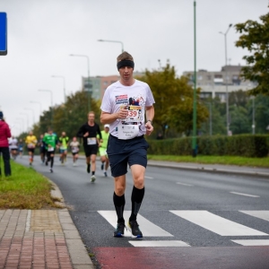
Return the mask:
[[193,139],[192,139],[192,149],[193,157],[197,155],[196,149],[196,2],[194,1],[194,40],[195,40],[195,72],[194,72],[194,109],[193,109]]

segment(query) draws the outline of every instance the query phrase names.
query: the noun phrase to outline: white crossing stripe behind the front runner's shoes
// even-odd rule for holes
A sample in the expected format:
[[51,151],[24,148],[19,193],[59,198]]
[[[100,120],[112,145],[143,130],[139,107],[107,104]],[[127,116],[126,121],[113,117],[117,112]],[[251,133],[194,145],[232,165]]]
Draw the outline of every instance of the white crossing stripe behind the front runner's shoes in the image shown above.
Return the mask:
[[[105,218],[114,228],[116,227],[117,214],[115,211],[98,211],[98,213],[100,213],[100,215]],[[129,220],[130,215],[131,211],[125,211],[125,220]],[[137,222],[143,232],[143,237],[173,237],[173,235],[171,235],[169,232],[162,230],[161,227],[155,225],[151,221],[148,221],[140,214],[137,215]],[[131,237],[131,232],[129,230],[125,230],[125,236]]]

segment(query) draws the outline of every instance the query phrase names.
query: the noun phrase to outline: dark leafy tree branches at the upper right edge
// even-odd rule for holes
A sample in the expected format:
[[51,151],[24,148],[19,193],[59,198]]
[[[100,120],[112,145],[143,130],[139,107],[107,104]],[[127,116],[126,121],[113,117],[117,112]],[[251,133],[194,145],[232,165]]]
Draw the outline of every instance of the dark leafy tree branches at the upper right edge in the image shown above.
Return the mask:
[[242,67],[242,76],[256,87],[250,94],[263,93],[269,95],[269,13],[260,17],[261,23],[248,20],[235,25],[242,34],[236,42],[237,47],[247,48],[250,56],[244,56],[247,66]]

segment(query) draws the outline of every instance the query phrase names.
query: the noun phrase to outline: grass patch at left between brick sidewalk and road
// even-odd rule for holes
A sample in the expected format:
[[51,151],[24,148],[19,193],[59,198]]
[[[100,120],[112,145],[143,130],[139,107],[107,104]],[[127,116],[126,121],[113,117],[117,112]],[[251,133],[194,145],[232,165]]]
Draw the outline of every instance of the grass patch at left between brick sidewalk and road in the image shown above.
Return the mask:
[[0,209],[46,209],[59,207],[51,197],[48,179],[34,169],[11,161],[12,176],[4,177],[3,159],[0,176]]

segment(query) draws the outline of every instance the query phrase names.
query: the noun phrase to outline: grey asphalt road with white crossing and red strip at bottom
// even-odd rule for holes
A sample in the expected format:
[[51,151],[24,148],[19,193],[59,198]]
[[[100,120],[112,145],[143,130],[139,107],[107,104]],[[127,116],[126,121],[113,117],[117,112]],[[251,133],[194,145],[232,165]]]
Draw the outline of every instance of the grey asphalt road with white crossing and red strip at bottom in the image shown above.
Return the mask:
[[[56,158],[51,174],[36,157],[34,169],[60,188],[99,268],[269,268],[268,179],[148,167],[138,216],[144,237],[137,240],[112,236],[113,178],[103,176],[100,162],[95,183],[83,160],[73,167]],[[126,220],[132,187],[128,172]]]

